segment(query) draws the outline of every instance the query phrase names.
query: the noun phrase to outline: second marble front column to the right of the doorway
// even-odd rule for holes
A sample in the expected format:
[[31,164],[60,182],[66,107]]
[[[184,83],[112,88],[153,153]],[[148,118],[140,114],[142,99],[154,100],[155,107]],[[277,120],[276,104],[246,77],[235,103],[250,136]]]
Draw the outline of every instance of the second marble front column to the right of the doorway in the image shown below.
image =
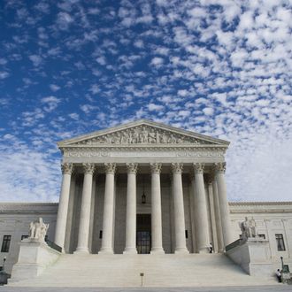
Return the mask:
[[175,250],[174,253],[187,253],[186,234],[185,234],[185,214],[183,206],[182,190],[182,164],[173,163],[173,212],[174,212],[174,232]]

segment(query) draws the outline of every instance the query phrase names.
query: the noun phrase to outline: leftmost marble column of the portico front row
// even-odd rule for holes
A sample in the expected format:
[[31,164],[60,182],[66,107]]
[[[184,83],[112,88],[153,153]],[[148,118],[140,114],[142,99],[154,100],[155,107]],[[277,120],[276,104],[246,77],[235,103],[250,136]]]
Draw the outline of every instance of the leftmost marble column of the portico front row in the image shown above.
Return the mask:
[[71,184],[71,175],[73,172],[73,164],[64,163],[61,165],[63,180],[61,187],[61,195],[58,204],[58,215],[57,215],[57,224],[55,231],[55,243],[62,248],[64,251],[65,243],[65,227],[67,224],[67,213],[69,205],[69,194],[70,194],[70,184]]

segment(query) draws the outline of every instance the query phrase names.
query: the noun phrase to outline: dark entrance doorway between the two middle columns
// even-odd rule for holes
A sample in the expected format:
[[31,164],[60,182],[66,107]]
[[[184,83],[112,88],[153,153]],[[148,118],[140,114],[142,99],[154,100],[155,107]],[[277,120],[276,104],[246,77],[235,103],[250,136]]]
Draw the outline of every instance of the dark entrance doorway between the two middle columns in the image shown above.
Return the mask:
[[139,254],[150,253],[151,250],[151,214],[137,214],[137,251]]

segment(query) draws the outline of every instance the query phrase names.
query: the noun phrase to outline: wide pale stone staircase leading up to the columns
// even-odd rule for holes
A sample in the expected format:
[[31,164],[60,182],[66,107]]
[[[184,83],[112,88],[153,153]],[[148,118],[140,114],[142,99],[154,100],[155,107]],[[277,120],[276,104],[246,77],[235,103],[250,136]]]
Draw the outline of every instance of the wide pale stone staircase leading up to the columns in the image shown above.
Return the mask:
[[[143,273],[143,279],[140,274]],[[214,287],[275,285],[251,277],[223,254],[62,255],[19,287]]]

